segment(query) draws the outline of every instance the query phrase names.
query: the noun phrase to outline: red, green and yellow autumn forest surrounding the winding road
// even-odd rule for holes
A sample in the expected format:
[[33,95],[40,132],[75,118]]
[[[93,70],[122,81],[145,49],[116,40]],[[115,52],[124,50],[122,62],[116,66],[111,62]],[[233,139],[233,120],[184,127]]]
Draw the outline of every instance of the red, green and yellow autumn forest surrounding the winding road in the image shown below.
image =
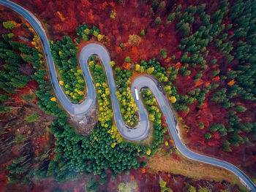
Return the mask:
[[[80,50],[89,42],[104,45],[129,128],[140,121],[131,83],[150,75],[170,101],[187,147],[238,166],[256,182],[255,0],[15,3],[42,21],[59,84],[72,103],[87,94]],[[0,26],[0,191],[20,185],[42,191],[49,182],[46,191],[246,191],[230,178],[153,172],[149,162],[161,154],[185,164],[165,116],[143,89],[151,134],[143,142],[121,137],[105,70],[94,55],[88,62],[97,125],[89,136],[78,134],[53,91],[32,26],[1,6]]]

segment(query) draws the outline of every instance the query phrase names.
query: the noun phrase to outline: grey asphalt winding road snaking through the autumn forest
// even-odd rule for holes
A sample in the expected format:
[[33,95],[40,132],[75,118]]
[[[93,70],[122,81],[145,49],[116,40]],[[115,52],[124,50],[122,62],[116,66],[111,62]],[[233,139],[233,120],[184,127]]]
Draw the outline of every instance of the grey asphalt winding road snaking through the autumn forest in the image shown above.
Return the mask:
[[[88,60],[91,55],[99,55],[99,58],[101,58],[102,63],[105,67],[105,72],[108,78],[108,85],[110,87],[110,95],[113,105],[114,117],[120,134],[126,139],[135,141],[141,141],[148,137],[150,131],[149,120],[146,109],[145,107],[143,107],[141,99],[139,99],[138,101],[135,99],[135,103],[138,106],[138,112],[140,115],[140,123],[138,123],[138,126],[135,129],[129,129],[127,128],[127,126],[124,125],[124,121],[121,118],[118,99],[116,97],[116,83],[113,78],[112,68],[110,67],[110,55],[108,51],[105,49],[105,47],[103,47],[102,45],[91,43],[83,47],[83,49],[80,51],[79,61],[81,69],[83,71],[83,76],[86,80],[88,94],[86,99],[82,103],[72,104],[71,101],[67,99],[67,96],[64,94],[64,92],[61,89],[61,86],[59,85],[59,80],[56,74],[56,68],[53,63],[53,58],[50,54],[48,37],[39,20],[31,12],[24,9],[23,7],[20,7],[18,4],[13,3],[12,1],[0,0],[0,4],[4,5],[5,7],[9,7],[15,12],[18,12],[20,15],[23,16],[23,18],[26,18],[26,20],[28,20],[31,26],[34,27],[34,30],[37,32],[39,38],[41,39],[42,47],[45,51],[45,57],[48,64],[48,71],[50,74],[50,79],[53,84],[54,91],[56,92],[56,96],[58,97],[63,107],[67,110],[67,112],[74,115],[83,115],[86,114],[86,112],[89,112],[93,107],[94,102],[97,99],[97,96],[94,88],[94,82],[92,81],[91,74],[89,72]],[[212,164],[214,166],[220,166],[222,168],[229,170],[230,172],[233,172],[240,178],[241,182],[246,186],[246,188],[249,188],[250,190],[256,192],[256,186],[254,183],[252,183],[252,180],[250,180],[249,177],[247,177],[246,174],[244,174],[244,172],[242,172],[236,166],[227,163],[226,161],[219,160],[217,158],[211,158],[206,155],[194,153],[181,142],[181,139],[176,131],[176,119],[170,108],[169,101],[167,101],[167,98],[164,95],[164,93],[162,93],[162,91],[159,90],[158,85],[159,82],[157,82],[157,80],[155,80],[154,78],[147,75],[140,76],[132,82],[132,96],[135,98],[135,86],[138,87],[138,91],[141,91],[141,89],[143,88],[148,88],[152,91],[152,93],[154,93],[158,105],[161,108],[163,115],[165,115],[167,126],[170,129],[170,133],[172,134],[173,140],[176,143],[177,149],[187,158],[190,158],[195,161],[200,161],[206,164]]]

